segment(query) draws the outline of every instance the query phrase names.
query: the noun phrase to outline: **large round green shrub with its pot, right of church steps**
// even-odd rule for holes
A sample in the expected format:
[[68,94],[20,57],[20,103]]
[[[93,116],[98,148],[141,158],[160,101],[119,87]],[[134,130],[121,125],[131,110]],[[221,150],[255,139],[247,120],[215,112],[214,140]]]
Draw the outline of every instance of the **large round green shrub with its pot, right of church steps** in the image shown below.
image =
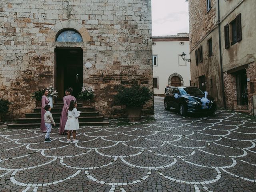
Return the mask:
[[133,85],[121,87],[115,95],[115,104],[125,105],[128,119],[132,122],[140,120],[142,106],[152,99],[153,92],[145,86]]

